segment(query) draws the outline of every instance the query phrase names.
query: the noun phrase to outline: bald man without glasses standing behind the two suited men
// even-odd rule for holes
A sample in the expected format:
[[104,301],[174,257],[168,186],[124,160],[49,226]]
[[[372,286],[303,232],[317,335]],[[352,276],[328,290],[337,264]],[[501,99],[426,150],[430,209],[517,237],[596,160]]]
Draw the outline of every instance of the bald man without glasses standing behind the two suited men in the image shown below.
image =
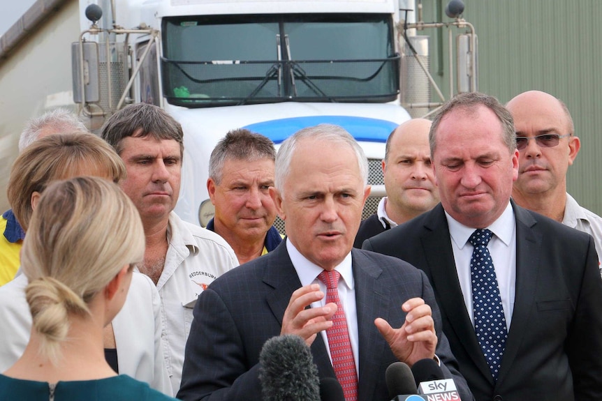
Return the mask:
[[395,128],[387,138],[383,178],[387,196],[376,213],[362,221],[353,246],[376,234],[430,211],[439,203],[439,192],[431,167],[429,130],[431,121],[411,119]]

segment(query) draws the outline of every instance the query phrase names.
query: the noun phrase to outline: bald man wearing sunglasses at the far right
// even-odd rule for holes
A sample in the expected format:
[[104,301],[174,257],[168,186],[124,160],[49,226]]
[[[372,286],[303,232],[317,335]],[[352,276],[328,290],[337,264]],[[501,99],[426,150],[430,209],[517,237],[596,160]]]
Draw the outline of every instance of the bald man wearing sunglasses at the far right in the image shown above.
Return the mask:
[[602,218],[566,192],[566,171],[581,146],[566,105],[548,93],[528,91],[506,107],[514,119],[520,153],[513,199],[526,209],[592,235],[600,259]]

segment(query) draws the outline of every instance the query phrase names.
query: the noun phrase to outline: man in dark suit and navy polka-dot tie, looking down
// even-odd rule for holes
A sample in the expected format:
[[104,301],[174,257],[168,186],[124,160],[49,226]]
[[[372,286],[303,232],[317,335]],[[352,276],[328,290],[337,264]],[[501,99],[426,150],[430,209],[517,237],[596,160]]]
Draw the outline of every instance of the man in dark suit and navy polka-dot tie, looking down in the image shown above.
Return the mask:
[[[441,204],[363,247],[427,273],[476,400],[602,400],[594,241],[511,201],[518,171],[511,114],[490,96],[459,95],[433,121],[430,146]],[[487,250],[473,232],[491,236]],[[479,286],[487,280],[485,294]],[[491,310],[496,317],[484,322]]]

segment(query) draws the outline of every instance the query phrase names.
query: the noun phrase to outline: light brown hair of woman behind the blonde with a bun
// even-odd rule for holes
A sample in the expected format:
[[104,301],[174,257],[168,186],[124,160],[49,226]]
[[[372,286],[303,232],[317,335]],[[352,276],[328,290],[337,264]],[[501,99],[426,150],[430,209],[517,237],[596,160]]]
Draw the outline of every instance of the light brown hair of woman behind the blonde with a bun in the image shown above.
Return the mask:
[[103,139],[91,133],[49,135],[27,146],[10,170],[8,202],[25,231],[31,218],[31,195],[54,180],[101,176],[115,183],[126,177],[121,158]]

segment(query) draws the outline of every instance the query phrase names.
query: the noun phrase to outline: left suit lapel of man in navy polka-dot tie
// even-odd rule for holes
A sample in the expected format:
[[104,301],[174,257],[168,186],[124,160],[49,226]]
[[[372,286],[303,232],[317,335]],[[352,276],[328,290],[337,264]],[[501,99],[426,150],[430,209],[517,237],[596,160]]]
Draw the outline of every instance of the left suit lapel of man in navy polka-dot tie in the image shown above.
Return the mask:
[[[429,268],[427,274],[430,275],[441,315],[447,317],[449,326],[460,339],[460,344],[466,349],[474,365],[483,372],[485,377],[491,378],[485,356],[478,344],[474,327],[466,310],[464,295],[455,268],[449,227],[441,204],[430,213],[429,218],[425,220],[424,227],[425,230],[421,234],[420,240]],[[491,380],[493,379],[491,378]]]

